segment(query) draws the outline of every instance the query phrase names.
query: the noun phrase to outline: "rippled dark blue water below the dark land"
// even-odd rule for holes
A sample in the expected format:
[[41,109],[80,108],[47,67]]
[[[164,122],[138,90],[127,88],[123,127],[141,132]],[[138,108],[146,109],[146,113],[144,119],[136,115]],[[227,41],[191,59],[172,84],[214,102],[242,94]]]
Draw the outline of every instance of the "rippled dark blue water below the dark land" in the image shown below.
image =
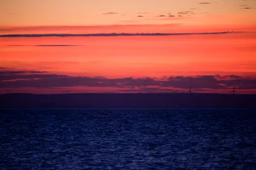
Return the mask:
[[0,110],[0,169],[255,170],[256,110]]

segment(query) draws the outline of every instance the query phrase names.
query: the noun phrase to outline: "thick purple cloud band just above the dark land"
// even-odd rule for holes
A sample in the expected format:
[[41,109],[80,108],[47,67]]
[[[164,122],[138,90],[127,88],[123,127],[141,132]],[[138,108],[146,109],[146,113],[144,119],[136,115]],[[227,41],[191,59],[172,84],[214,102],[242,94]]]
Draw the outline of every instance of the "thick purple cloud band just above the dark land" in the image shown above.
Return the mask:
[[237,85],[239,89],[256,89],[255,77],[237,75],[202,75],[194,77],[119,78],[74,77],[58,74],[44,74],[45,71],[0,71],[0,88],[59,88],[59,87],[113,87],[113,88],[181,88],[192,85],[197,91],[208,89],[229,89]]

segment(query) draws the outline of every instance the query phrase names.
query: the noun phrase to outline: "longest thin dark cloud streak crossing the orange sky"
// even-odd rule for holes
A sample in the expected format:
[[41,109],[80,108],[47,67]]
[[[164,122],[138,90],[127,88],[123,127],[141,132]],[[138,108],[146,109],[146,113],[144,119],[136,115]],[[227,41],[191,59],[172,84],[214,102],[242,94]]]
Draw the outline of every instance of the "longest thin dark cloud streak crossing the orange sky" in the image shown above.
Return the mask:
[[111,34],[5,34],[0,37],[115,37],[115,36],[169,36],[169,35],[204,35],[204,34],[233,34],[246,31],[201,32],[201,33],[111,33]]

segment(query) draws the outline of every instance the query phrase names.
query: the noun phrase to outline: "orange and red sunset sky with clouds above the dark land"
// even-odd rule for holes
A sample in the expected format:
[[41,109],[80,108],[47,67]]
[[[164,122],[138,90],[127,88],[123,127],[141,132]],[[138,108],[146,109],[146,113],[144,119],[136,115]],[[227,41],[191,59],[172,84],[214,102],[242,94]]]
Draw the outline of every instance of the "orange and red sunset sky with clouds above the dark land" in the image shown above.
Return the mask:
[[256,94],[255,16],[256,0],[0,0],[0,94]]

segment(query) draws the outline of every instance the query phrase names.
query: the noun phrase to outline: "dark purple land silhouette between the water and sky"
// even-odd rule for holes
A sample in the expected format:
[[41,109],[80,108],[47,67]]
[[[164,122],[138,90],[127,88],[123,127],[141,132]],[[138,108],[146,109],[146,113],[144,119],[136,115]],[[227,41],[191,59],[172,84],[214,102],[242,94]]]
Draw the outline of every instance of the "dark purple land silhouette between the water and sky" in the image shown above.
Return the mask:
[[0,94],[0,108],[256,108],[256,95]]

